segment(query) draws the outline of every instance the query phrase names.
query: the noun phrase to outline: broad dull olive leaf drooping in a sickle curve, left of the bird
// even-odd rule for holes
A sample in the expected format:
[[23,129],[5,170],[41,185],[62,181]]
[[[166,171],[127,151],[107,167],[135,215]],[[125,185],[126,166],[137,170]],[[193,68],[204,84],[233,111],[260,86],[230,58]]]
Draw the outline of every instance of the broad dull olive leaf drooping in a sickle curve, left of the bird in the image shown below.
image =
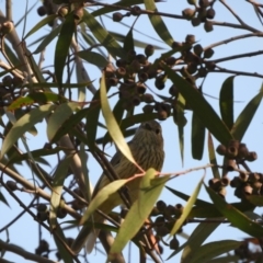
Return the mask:
[[60,127],[65,127],[66,119],[68,119],[79,106],[77,102],[68,102],[56,107],[48,118],[47,124],[47,138],[49,141],[53,141]]

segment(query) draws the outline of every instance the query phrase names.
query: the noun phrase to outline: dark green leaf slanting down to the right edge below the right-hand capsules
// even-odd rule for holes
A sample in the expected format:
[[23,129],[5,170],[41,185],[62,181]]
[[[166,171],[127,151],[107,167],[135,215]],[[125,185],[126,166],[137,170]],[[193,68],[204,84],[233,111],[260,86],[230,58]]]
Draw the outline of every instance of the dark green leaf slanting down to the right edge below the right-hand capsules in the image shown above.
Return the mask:
[[206,192],[209,194],[216,208],[225,216],[233,227],[239,228],[241,231],[247,232],[252,237],[260,238],[263,236],[263,227],[258,222],[250,220],[244,214],[228,204],[211,188],[205,185]]

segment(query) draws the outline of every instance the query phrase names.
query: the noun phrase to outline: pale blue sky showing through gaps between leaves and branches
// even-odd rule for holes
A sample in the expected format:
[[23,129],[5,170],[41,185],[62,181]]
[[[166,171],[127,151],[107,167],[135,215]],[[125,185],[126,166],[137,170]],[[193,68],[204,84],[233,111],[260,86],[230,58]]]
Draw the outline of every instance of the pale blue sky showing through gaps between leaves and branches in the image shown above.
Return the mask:
[[[25,1],[24,1],[25,2]],[[28,1],[28,5],[31,7],[35,1]],[[107,1],[107,3],[113,1]],[[262,24],[259,22],[256,15],[254,14],[254,11],[250,4],[248,4],[245,1],[239,1],[239,4],[237,4],[236,0],[228,0],[227,1],[229,5],[231,5],[235,11],[250,25],[259,28],[259,31],[262,30]],[[262,0],[259,2],[263,2]],[[41,5],[41,2],[36,5],[38,8]],[[172,12],[173,14],[181,14],[182,10],[185,8],[188,8],[187,1],[163,1],[158,3],[158,10],[161,12]],[[19,19],[23,15],[24,12],[24,4],[21,4],[21,1],[13,0],[13,20],[14,22],[19,21]],[[30,19],[27,19],[25,32],[28,32],[32,26],[35,24],[36,21],[39,21],[41,18],[36,14],[36,8],[31,12]],[[0,9],[4,12],[4,1],[0,1]],[[221,22],[229,22],[229,23],[238,23],[236,19],[219,3],[219,1],[215,4],[216,9],[216,21]],[[167,26],[170,30],[170,33],[178,42],[183,42],[185,36],[187,34],[194,34],[196,36],[196,41],[202,46],[208,46],[213,43],[217,43],[219,41],[227,39],[232,36],[245,34],[248,32],[241,31],[241,30],[233,30],[233,28],[227,28],[224,26],[215,26],[215,30],[211,33],[206,33],[203,28],[203,26],[193,27],[191,23],[180,20],[173,20],[173,19],[163,19]],[[103,18],[102,19],[104,25],[110,31],[121,32],[124,35],[128,32],[128,27],[122,26],[117,23],[113,23],[110,18]],[[134,23],[134,18],[126,18],[123,20],[123,22],[127,25],[132,25]],[[147,34],[151,37],[155,37],[156,39],[159,39],[159,36],[156,34],[153,28],[151,27],[149,20],[146,15],[142,15],[138,19],[136,22],[135,28],[140,31],[142,34],[134,33],[135,38],[144,41],[146,43],[160,45],[163,47],[161,52],[157,52],[157,55],[160,53],[165,53],[169,50],[169,47],[162,44],[158,41],[149,39],[144,34]],[[21,36],[23,27],[20,25],[18,27],[19,35]],[[35,34],[32,37],[30,37],[26,43],[27,45],[32,43],[37,37],[42,36],[43,34],[46,34],[49,31],[49,27],[45,27],[41,34]],[[256,52],[262,49],[262,38],[260,37],[250,37],[237,42],[231,42],[226,45],[220,45],[215,48],[215,55],[213,58],[221,58],[227,57],[229,55],[237,55],[242,54],[245,52]],[[30,47],[30,49],[33,52],[36,46]],[[142,52],[142,49],[138,49],[138,52]],[[54,43],[47,48],[46,55],[45,55],[45,66],[53,65],[53,56],[54,56]],[[0,57],[2,59],[2,57]],[[36,60],[38,57],[35,57]],[[153,59],[153,58],[152,58]],[[250,72],[258,72],[262,73],[262,58],[261,57],[247,57],[239,60],[233,61],[227,61],[224,64],[220,64],[221,67],[231,68],[235,70],[242,70],[242,71],[250,71]],[[100,70],[96,69],[94,66],[87,65],[87,68],[89,68],[89,73],[92,76],[92,79],[95,79],[96,81],[100,78]],[[209,103],[213,105],[213,107],[216,110],[216,112],[219,112],[219,91],[221,88],[221,84],[224,80],[229,77],[230,75],[227,73],[209,73],[209,76],[206,78],[204,83],[204,93],[210,96],[206,96],[206,99],[209,101]],[[94,83],[98,83],[98,82]],[[199,83],[198,83],[199,84]],[[242,111],[242,108],[247,105],[247,103],[259,92],[262,84],[262,80],[260,78],[252,78],[252,77],[236,77],[235,78],[235,117],[239,115],[239,113]],[[213,96],[213,98],[211,98]],[[88,93],[87,100],[91,98],[91,94]],[[262,160],[263,160],[263,147],[262,147],[262,105],[259,107],[256,115],[254,116],[251,126],[245,134],[243,141],[247,144],[250,150],[256,151],[259,159],[253,162],[249,163],[252,171],[262,171]],[[205,146],[204,157],[202,160],[193,160],[191,155],[191,112],[185,112],[185,116],[187,117],[187,125],[185,126],[185,134],[184,134],[184,161],[182,163],[181,157],[180,157],[180,148],[179,148],[179,136],[178,136],[178,128],[173,124],[172,118],[161,122],[162,129],[163,129],[163,138],[164,138],[164,151],[165,151],[165,161],[162,169],[162,172],[170,173],[170,172],[178,172],[178,171],[184,171],[190,168],[201,167],[208,163],[208,153]],[[101,121],[103,121],[101,118]],[[26,135],[27,142],[31,147],[31,149],[37,149],[42,148],[44,144],[47,141],[46,137],[46,126],[44,123],[37,125],[38,135],[36,137],[33,137],[31,135]],[[98,137],[104,135],[103,130],[100,130],[98,134]],[[207,134],[206,134],[206,141],[207,141]],[[218,142],[215,141],[215,146],[217,146]],[[111,147],[110,145],[106,146],[106,152],[110,156],[114,155],[114,147]],[[52,159],[50,163],[54,165]],[[221,159],[218,158],[218,162],[220,163]],[[90,169],[90,176],[93,184],[95,184],[96,180],[101,175],[101,168],[100,165],[90,157],[88,161],[88,165]],[[54,167],[53,167],[54,168]],[[32,180],[32,174],[28,170],[26,170],[23,167],[18,168],[21,173],[28,180]],[[25,175],[26,174],[26,175]],[[175,190],[182,191],[185,194],[191,195],[191,193],[194,191],[197,182],[201,180],[201,178],[204,175],[204,171],[195,171],[192,173],[187,173],[185,175],[181,175],[171,182],[169,182],[170,187],[174,187]],[[235,176],[237,174],[231,173],[230,178]],[[207,182],[211,178],[211,172],[207,170],[205,181]],[[227,202],[238,202],[238,199],[233,196],[232,188],[227,187],[228,195],[226,197]],[[4,191],[3,191],[4,193]],[[30,203],[32,196],[26,193],[18,193],[23,201],[27,201]],[[204,198],[206,201],[209,201],[209,197],[203,190],[198,196],[199,198]],[[179,199],[169,191],[163,191],[161,199],[170,202],[169,204],[175,205],[178,203],[184,204],[183,201]],[[9,198],[11,199],[11,198]],[[1,218],[0,228],[3,227],[7,222],[9,222],[11,219],[13,219],[21,210],[22,208],[19,207],[19,205],[15,202],[10,201],[11,208],[4,206],[0,203],[0,210],[1,215],[4,215],[3,218]],[[262,209],[256,209],[258,214],[262,214]],[[196,226],[194,224],[187,225],[184,227],[184,231],[186,235],[190,235],[191,231]],[[21,218],[11,229],[10,229],[10,240],[11,242],[16,243],[18,245],[23,245],[24,249],[33,252],[34,249],[37,247],[37,240],[38,240],[38,226],[37,224],[33,222],[32,218],[27,215],[24,215],[23,218]],[[47,240],[50,240],[50,233],[45,232],[43,230],[43,238],[46,237]],[[76,231],[69,232],[69,236],[73,237],[76,236]],[[208,241],[215,241],[215,240],[221,240],[221,239],[237,239],[242,240],[244,237],[247,237],[243,232],[238,231],[228,225],[220,226],[208,239]],[[0,239],[7,240],[7,233],[1,232]],[[182,244],[185,240],[183,238],[179,238],[180,243]],[[50,244],[50,248],[55,248],[54,244]],[[127,250],[125,250],[125,253],[127,253]],[[132,253],[137,253],[136,248],[132,248]],[[163,254],[163,259],[165,260],[168,255],[170,254],[170,250],[167,249]],[[89,262],[98,261],[101,254],[99,252],[94,252],[91,255],[89,255],[88,260]],[[137,256],[133,254],[133,256]],[[13,253],[7,253],[5,258],[7,260],[13,261],[13,262],[26,262],[22,258],[15,256]],[[54,258],[54,253],[52,254],[52,259]],[[137,259],[137,258],[135,258]],[[180,255],[178,255],[174,260],[171,260],[171,262],[179,262]]]

